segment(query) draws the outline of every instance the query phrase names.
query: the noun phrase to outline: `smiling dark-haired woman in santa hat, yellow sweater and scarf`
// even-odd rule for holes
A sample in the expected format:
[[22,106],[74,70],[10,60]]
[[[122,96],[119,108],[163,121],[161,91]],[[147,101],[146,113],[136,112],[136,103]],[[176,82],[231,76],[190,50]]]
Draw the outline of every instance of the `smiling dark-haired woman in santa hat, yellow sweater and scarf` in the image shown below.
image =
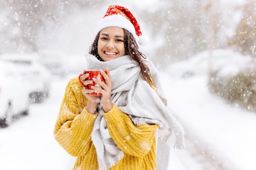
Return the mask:
[[[77,157],[73,170],[156,170],[156,152],[166,150],[157,144],[168,146],[174,131],[175,147],[184,148],[183,129],[165,106],[155,67],[139,51],[139,24],[128,9],[110,6],[95,37],[87,70],[100,69],[105,83],[93,79],[102,89],[91,90],[78,77],[68,82],[54,137]],[[84,86],[92,83],[87,77]]]

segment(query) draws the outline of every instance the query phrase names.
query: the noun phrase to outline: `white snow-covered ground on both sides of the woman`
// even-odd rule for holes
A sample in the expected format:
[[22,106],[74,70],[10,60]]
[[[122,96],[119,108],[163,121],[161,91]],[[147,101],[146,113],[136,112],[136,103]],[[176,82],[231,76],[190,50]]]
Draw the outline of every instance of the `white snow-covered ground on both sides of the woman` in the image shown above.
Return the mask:
[[[256,169],[256,114],[211,95],[204,76],[172,79],[163,73],[162,81],[169,106],[184,125],[186,137],[197,144],[195,147],[188,140],[187,150],[172,150],[169,170],[212,170],[213,164],[224,164],[226,170]],[[1,170],[72,169],[74,157],[67,155],[53,137],[66,83],[67,79],[54,79],[49,99],[31,105],[28,116],[0,129]]]

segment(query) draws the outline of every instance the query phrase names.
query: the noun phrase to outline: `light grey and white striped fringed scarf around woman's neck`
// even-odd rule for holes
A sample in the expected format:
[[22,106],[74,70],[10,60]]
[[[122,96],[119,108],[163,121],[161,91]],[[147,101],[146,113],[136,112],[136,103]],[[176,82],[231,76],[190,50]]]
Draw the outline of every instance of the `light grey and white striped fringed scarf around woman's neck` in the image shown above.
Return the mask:
[[[174,147],[184,148],[183,128],[166,108],[166,99],[158,73],[152,63],[148,64],[148,67],[157,93],[141,78],[140,67],[134,61],[132,62],[129,55],[106,62],[99,61],[93,55],[86,55],[86,59],[88,62],[87,70],[105,70],[106,66],[108,67],[112,83],[111,102],[121,111],[127,113],[134,124],[158,124],[157,135],[162,140],[158,143],[166,144],[167,147],[171,143],[171,135],[174,131],[176,138]],[[101,106],[99,106],[91,136],[97,152],[99,170],[111,168],[124,157],[123,151],[117,147],[110,136]],[[163,154],[166,148],[164,146],[159,147],[159,144],[157,145],[157,154]],[[167,153],[164,154],[168,155],[168,152],[167,150]],[[168,159],[168,156],[166,158]],[[159,155],[157,155],[157,159],[159,159]],[[161,163],[162,167],[167,168],[168,160],[161,160]]]

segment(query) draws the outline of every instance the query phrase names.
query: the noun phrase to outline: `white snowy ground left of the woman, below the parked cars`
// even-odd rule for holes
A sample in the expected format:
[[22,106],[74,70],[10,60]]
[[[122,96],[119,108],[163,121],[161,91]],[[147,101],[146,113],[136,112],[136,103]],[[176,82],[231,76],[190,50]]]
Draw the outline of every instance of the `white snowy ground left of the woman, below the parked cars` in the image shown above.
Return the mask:
[[54,80],[51,96],[32,104],[28,116],[0,129],[1,170],[71,170],[73,157],[54,140],[53,128],[65,91],[64,81]]

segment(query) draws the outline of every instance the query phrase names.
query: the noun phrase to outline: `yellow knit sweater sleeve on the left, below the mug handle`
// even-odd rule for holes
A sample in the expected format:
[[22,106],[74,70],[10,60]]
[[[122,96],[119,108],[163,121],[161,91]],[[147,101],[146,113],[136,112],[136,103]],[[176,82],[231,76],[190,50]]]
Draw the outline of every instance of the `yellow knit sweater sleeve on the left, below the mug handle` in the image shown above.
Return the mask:
[[67,84],[54,128],[56,141],[72,156],[84,155],[92,144],[91,133],[97,114],[85,109],[86,97],[71,79]]

